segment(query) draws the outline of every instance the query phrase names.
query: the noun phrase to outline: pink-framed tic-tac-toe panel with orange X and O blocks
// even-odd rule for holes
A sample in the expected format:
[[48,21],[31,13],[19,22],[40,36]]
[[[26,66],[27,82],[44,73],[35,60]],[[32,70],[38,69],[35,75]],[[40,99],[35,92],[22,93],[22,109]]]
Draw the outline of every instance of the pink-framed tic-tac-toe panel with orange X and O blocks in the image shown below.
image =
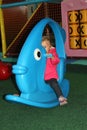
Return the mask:
[[[77,6],[78,5],[78,6]],[[66,31],[68,57],[87,57],[87,0],[61,2],[62,27]]]

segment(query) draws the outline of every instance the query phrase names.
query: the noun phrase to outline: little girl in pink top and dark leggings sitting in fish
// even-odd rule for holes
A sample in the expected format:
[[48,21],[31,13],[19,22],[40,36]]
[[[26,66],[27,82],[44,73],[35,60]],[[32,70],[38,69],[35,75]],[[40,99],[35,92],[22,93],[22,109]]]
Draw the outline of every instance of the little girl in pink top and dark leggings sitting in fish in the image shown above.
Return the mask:
[[60,62],[58,55],[56,53],[56,48],[52,46],[50,38],[48,36],[43,36],[42,46],[45,48],[47,55],[52,55],[52,57],[47,57],[46,60],[46,69],[44,74],[44,80],[47,84],[52,87],[54,92],[57,95],[60,105],[67,104],[67,99],[63,96],[62,91],[57,82],[58,73],[57,73],[57,64]]

